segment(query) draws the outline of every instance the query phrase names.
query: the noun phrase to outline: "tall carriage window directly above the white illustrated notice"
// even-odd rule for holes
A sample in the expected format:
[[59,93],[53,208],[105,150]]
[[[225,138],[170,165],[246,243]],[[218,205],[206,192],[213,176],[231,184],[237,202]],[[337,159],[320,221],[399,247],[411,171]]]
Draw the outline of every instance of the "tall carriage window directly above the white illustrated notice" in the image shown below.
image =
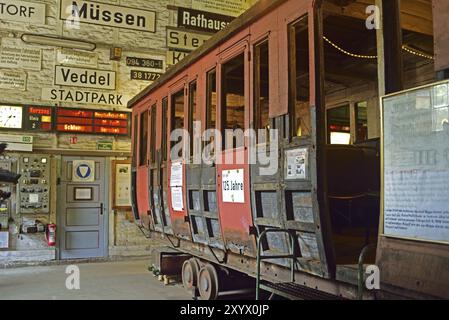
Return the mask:
[[290,117],[292,136],[310,136],[308,17],[289,27]]

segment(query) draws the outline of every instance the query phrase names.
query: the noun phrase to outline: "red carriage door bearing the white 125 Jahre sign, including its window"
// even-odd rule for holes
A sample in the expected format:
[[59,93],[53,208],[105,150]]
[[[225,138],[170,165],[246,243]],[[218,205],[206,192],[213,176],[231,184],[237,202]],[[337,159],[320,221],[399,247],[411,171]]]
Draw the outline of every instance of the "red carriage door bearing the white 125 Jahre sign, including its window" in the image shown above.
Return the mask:
[[[220,58],[219,124],[222,150],[217,154],[217,193],[225,246],[254,256],[248,144],[249,127],[248,42],[224,52]],[[217,139],[218,140],[218,139]]]

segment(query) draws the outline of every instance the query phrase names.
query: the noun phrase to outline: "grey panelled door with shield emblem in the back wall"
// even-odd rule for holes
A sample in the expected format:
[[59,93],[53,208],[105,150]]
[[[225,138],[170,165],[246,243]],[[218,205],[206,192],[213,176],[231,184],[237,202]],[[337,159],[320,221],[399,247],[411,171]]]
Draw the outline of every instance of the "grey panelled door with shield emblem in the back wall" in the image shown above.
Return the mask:
[[107,256],[104,158],[62,158],[59,193],[61,259]]

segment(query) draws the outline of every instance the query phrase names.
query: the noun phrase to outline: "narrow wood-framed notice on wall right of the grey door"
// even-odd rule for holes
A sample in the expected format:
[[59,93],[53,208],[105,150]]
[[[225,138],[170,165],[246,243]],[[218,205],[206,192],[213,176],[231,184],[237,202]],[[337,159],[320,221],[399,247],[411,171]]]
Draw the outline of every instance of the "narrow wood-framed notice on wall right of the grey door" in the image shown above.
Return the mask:
[[113,208],[131,210],[131,161],[112,161]]

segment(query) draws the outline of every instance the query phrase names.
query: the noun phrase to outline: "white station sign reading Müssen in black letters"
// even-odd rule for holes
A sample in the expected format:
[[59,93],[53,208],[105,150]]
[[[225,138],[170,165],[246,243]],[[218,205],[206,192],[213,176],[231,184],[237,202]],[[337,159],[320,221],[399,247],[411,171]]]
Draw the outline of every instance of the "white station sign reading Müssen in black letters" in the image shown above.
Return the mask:
[[156,12],[93,1],[61,0],[60,19],[108,27],[156,32]]

